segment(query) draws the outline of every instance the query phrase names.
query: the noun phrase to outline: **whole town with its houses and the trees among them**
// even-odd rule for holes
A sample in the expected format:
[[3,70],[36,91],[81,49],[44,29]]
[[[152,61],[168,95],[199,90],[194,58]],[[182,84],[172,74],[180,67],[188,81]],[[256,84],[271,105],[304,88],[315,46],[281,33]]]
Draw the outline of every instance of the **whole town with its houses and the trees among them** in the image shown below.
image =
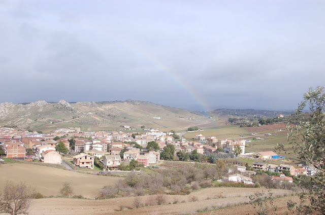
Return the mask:
[[230,166],[228,173],[236,174],[228,174],[222,181],[254,184],[250,175],[258,171],[275,173],[272,175],[273,181],[289,183],[294,181],[291,175],[315,174],[314,168],[307,165],[295,168],[293,165],[268,163],[284,158],[273,151],[245,154],[247,141],[218,139],[215,136],[205,138],[202,134],[188,140],[174,131],[163,132],[151,128],[143,128],[143,132],[82,132],[80,128],[59,128],[50,134],[0,128],[0,152],[3,157],[59,164],[67,169],[96,167],[105,174],[136,170],[137,167],[154,167],[160,160],[215,163],[217,159],[243,157],[252,160],[252,164]]

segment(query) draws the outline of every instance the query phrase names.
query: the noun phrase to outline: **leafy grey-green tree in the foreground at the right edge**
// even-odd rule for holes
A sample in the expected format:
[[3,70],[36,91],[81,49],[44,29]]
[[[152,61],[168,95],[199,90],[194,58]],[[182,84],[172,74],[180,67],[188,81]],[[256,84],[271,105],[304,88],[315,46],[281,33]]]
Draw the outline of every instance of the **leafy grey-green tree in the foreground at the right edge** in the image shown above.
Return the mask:
[[[299,209],[308,214],[325,214],[325,93],[324,87],[309,88],[299,104],[293,119],[288,123],[288,144],[298,159],[316,169],[309,183],[303,183],[311,195],[302,195],[309,204]],[[307,109],[309,112],[304,114]],[[292,126],[295,124],[296,126]],[[284,150],[283,145],[276,147]]]

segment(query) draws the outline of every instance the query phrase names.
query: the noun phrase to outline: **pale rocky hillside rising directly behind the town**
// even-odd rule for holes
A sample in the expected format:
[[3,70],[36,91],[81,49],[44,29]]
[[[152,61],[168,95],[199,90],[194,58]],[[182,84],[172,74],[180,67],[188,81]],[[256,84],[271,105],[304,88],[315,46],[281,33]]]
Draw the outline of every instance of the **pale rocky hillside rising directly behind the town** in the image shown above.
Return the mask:
[[212,120],[208,117],[187,110],[135,100],[0,103],[1,126],[17,126],[43,132],[61,127],[81,127],[84,131],[113,130],[120,128],[120,125],[183,130],[210,121]]

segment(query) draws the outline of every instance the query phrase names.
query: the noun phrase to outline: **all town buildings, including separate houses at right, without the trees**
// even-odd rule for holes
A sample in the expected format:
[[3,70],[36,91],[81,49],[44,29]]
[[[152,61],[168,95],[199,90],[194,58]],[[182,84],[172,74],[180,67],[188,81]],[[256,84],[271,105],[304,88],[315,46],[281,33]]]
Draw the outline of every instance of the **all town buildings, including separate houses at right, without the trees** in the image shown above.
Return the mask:
[[[132,160],[138,161],[147,167],[156,164],[160,160],[160,153],[168,144],[174,145],[175,153],[185,151],[192,153],[196,150],[200,154],[219,153],[217,149],[223,149],[225,153],[232,152],[236,145],[240,146],[241,154],[245,153],[246,140],[238,139],[218,139],[214,136],[205,138],[202,134],[194,137],[196,141],[188,141],[181,138],[174,141],[173,133],[161,132],[154,129],[148,129],[143,133],[124,133],[122,131],[112,133],[108,132],[81,132],[75,129],[57,129],[51,134],[39,134],[37,132],[18,131],[13,128],[0,128],[0,145],[3,147],[7,158],[16,159],[37,159],[44,163],[61,164],[61,154],[56,152],[55,147],[59,142],[73,154],[73,164],[80,168],[94,168],[95,159],[103,163],[105,169],[117,169],[122,162],[129,163]],[[55,138],[56,137],[56,138]],[[61,137],[61,138],[58,138]],[[68,139],[74,138],[74,149],[70,148]],[[159,150],[148,151],[147,144],[150,141],[156,141]],[[135,148],[134,142],[137,142],[142,149]],[[204,142],[205,144],[202,144]],[[26,154],[26,149],[32,153]],[[121,151],[123,153],[121,154]],[[304,166],[295,168],[290,165],[267,164],[267,160],[279,159],[279,155],[274,152],[252,153],[251,157],[258,161],[253,162],[252,170],[279,172],[280,175],[273,175],[275,181],[289,181],[293,178],[283,174],[289,171],[291,175],[313,175],[313,168]],[[241,173],[246,171],[246,167],[238,167]],[[229,176],[231,182],[242,182],[252,184],[251,178],[241,174],[232,174]]]

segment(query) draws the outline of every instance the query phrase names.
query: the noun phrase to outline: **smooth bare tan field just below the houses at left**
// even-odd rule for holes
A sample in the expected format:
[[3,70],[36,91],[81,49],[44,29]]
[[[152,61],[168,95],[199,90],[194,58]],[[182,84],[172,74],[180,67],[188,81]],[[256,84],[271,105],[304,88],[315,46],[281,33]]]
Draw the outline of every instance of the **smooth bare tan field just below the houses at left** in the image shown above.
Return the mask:
[[[120,177],[79,173],[48,166],[10,163],[0,166],[0,189],[6,181],[26,182],[45,196],[58,196],[63,182],[69,182],[74,194],[94,198],[106,185],[114,185]],[[53,200],[53,199],[52,199]]]

